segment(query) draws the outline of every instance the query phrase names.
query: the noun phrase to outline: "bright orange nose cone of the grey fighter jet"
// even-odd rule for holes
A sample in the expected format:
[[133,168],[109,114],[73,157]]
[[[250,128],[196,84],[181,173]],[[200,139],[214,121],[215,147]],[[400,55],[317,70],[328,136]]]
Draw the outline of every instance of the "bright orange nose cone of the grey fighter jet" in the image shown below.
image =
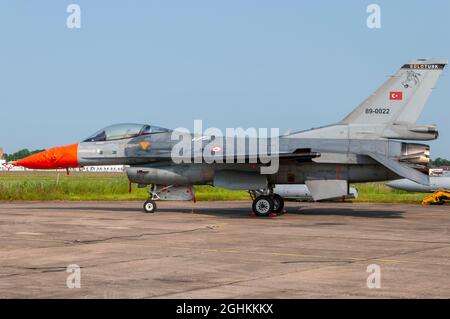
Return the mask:
[[34,169],[78,167],[78,144],[54,147],[25,157],[13,164]]

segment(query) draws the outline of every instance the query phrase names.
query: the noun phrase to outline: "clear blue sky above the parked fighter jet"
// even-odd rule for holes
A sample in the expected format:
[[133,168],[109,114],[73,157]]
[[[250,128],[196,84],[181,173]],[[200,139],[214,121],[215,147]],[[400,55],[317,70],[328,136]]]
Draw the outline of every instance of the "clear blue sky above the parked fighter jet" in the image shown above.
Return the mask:
[[[81,29],[66,8],[81,7]],[[381,6],[368,29],[366,7]],[[449,1],[0,1],[0,146],[80,141],[120,122],[170,128],[337,122],[416,57],[450,57]],[[450,158],[450,78],[420,123]]]

